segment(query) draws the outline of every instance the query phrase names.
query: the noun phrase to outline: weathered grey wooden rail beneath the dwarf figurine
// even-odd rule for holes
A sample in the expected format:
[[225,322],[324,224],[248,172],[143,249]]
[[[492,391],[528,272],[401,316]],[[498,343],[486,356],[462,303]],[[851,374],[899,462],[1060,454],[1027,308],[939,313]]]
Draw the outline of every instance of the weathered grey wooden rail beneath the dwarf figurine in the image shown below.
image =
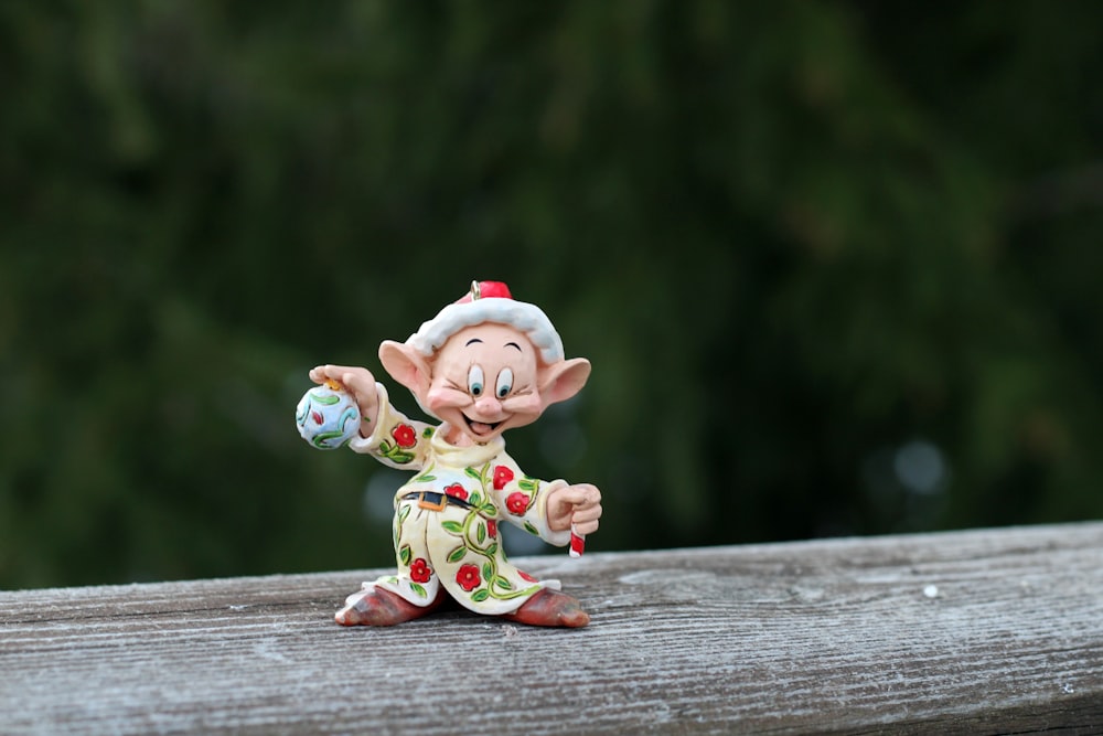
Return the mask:
[[1103,732],[1103,523],[533,557],[593,615],[332,612],[378,570],[0,594],[0,733]]

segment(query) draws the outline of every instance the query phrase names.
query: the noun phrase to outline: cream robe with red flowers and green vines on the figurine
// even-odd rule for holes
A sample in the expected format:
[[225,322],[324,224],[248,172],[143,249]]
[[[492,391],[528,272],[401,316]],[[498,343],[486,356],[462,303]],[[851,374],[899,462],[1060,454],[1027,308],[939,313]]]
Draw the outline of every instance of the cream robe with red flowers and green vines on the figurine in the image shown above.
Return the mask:
[[[497,524],[507,521],[545,542],[566,545],[570,531],[554,532],[545,519],[547,493],[566,481],[525,476],[505,454],[500,436],[484,445],[451,445],[437,427],[396,410],[383,384],[377,383],[376,391],[379,414],[374,431],[349,446],[418,474],[395,493],[398,574],[365,583],[364,588],[377,586],[416,606],[428,606],[443,585],[465,608],[489,615],[515,611],[542,588],[558,589],[558,580],[537,580],[506,561]],[[446,493],[472,508],[448,503],[437,511],[403,498],[416,491]]]

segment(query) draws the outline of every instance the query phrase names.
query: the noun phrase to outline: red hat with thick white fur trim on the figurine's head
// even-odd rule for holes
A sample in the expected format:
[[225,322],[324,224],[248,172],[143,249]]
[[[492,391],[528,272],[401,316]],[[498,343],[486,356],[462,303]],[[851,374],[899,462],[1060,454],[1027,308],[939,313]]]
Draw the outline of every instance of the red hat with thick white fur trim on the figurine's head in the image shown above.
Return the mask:
[[536,305],[516,301],[502,281],[472,281],[471,290],[448,305],[410,335],[406,344],[425,356],[432,355],[450,337],[467,327],[496,322],[514,327],[532,340],[545,363],[564,359],[563,340],[552,320]]

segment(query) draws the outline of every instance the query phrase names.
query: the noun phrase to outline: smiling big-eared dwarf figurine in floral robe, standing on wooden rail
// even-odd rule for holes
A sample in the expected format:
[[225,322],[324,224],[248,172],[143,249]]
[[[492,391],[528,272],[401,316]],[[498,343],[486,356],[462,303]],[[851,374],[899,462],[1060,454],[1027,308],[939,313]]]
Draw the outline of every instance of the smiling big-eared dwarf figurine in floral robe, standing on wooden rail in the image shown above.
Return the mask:
[[[570,544],[572,556],[581,553],[585,535],[597,531],[596,487],[529,478],[506,455],[502,438],[577,394],[590,375],[589,361],[566,360],[544,311],[514,300],[500,281],[473,282],[470,294],[405,343],[379,345],[379,360],[440,424],[395,409],[367,369],[310,371],[312,381],[347,392],[358,406],[351,449],[417,473],[395,494],[397,574],[365,583],[336,612],[336,622],[400,623],[450,596],[472,611],[521,623],[586,626],[589,615],[559,591],[558,580],[536,579],[506,561],[499,524],[516,524],[557,546]],[[300,430],[310,441],[301,424]]]

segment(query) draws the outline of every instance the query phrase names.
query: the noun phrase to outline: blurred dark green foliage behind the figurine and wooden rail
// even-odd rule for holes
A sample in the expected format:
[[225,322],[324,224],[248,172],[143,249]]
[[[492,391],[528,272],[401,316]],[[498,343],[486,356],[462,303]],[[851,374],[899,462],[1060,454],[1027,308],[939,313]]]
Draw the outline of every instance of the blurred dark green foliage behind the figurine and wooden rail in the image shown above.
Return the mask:
[[[1103,515],[1103,6],[0,4],[0,587],[387,565],[297,436],[471,279],[591,550]],[[388,490],[382,493],[386,506]],[[378,503],[378,500],[368,502]]]

